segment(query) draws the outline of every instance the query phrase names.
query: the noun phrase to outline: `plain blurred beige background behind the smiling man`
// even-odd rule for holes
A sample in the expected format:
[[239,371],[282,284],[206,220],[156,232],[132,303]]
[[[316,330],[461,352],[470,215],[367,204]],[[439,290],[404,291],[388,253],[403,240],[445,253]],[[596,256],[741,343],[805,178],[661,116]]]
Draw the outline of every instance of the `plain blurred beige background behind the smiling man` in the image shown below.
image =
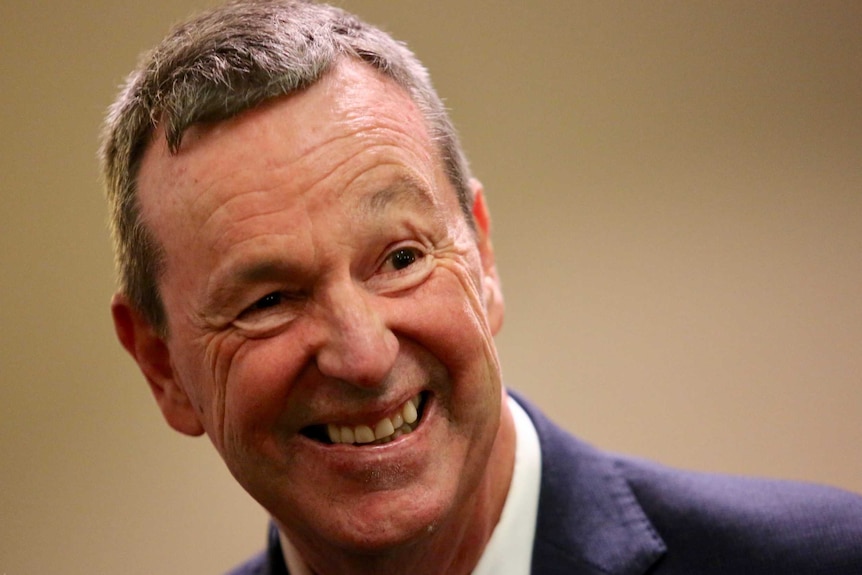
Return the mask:
[[[0,4],[0,573],[218,573],[265,516],[115,343],[102,111],[203,0]],[[509,384],[600,446],[862,491],[862,3],[345,0],[496,217]]]

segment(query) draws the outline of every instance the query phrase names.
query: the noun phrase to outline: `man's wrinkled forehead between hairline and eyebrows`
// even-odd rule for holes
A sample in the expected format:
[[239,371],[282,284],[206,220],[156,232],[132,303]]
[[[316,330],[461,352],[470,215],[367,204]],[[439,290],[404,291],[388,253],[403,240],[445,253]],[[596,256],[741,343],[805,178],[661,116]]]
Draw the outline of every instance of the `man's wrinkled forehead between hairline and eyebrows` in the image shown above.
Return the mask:
[[384,163],[390,154],[405,165],[442,170],[424,118],[406,92],[368,65],[344,60],[304,91],[191,127],[176,154],[157,131],[138,174],[143,216],[158,228],[169,219],[167,211],[180,210],[184,217],[206,212],[201,204],[224,203],[225,194],[237,193],[232,182],[266,189],[284,171],[294,189],[311,188],[328,173],[349,171],[351,162],[360,170],[359,160],[367,164],[369,153]]

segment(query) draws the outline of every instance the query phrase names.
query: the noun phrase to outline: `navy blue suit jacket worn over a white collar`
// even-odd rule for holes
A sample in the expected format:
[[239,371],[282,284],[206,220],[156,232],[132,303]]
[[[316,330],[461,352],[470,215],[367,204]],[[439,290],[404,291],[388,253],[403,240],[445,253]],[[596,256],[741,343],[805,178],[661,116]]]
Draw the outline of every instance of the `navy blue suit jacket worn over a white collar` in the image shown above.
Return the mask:
[[[524,407],[542,446],[535,575],[862,575],[862,497],[610,455]],[[287,575],[278,533],[231,575]]]

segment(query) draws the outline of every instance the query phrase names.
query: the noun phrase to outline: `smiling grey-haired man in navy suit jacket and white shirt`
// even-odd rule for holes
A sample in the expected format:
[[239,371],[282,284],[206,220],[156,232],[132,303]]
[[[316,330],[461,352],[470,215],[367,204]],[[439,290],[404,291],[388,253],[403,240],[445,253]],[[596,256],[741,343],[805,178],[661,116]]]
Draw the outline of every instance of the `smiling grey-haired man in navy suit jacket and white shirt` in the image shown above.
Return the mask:
[[237,573],[860,573],[862,499],[612,457],[503,388],[490,216],[415,57],[323,5],[175,29],[111,108],[117,335],[271,514]]

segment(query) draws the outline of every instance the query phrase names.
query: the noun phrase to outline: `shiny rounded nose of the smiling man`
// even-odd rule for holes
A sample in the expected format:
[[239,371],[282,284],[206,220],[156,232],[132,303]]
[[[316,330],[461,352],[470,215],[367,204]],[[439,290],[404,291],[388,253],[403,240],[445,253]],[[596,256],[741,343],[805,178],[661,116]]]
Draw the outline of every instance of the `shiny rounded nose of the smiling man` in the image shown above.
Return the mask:
[[359,387],[380,385],[398,355],[379,296],[352,280],[330,285],[320,298],[322,338],[317,350],[321,374]]

